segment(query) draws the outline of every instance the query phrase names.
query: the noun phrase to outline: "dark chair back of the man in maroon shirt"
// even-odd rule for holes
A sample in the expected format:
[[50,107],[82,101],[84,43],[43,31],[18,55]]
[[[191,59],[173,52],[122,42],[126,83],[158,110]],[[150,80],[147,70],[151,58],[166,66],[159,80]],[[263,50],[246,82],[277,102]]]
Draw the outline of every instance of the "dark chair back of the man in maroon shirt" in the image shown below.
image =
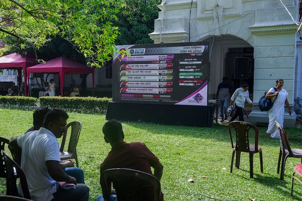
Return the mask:
[[[161,182],[157,177],[146,172],[128,168],[112,168],[102,173],[101,182],[106,183],[103,197],[109,200],[111,183],[118,201],[159,201]],[[152,188],[152,190],[150,190]]]

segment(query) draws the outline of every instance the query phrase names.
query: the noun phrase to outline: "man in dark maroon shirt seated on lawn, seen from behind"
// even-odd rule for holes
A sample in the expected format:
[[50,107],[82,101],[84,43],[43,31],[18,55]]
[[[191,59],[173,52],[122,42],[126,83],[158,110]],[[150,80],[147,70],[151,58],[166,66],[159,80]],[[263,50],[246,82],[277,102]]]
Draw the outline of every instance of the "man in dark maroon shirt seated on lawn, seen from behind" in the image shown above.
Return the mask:
[[[120,122],[116,120],[106,122],[103,126],[103,133],[105,142],[110,143],[112,149],[100,166],[101,174],[104,170],[110,168],[130,168],[152,174],[150,167],[153,167],[154,176],[159,180],[162,178],[164,166],[159,159],[143,143],[124,142],[124,133]],[[104,194],[106,186],[103,186],[101,179],[100,184]],[[161,193],[161,200],[163,200],[163,196],[163,193]],[[103,201],[103,195],[99,195],[96,200]],[[108,201],[113,200],[117,200],[115,194],[111,194]],[[145,197],[143,200],[151,201],[154,198]]]

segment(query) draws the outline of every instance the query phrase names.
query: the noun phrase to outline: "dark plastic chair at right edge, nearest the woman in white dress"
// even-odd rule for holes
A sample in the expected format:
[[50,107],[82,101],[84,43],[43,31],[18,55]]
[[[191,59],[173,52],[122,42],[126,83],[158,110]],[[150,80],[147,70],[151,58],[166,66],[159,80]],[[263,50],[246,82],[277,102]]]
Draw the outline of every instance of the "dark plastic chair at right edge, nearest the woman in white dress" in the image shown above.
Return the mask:
[[279,152],[277,172],[279,173],[280,161],[282,158],[280,179],[283,180],[286,159],[288,157],[301,158],[301,162],[302,162],[302,149],[291,149],[285,130],[282,128],[282,126],[278,122],[276,122],[276,125],[277,125],[279,135],[280,135],[280,138],[279,138],[280,139],[280,152]]

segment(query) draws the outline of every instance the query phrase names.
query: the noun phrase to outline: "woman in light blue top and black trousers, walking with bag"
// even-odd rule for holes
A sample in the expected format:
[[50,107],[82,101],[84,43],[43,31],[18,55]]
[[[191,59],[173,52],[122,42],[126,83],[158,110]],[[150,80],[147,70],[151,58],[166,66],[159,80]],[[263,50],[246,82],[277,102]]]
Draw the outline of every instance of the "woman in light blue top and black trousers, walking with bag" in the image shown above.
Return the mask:
[[242,87],[237,88],[235,90],[235,92],[233,93],[233,95],[231,97],[231,105],[233,105],[233,103],[235,104],[236,113],[229,122],[233,122],[238,116],[239,116],[239,121],[244,122],[243,108],[244,108],[245,102],[248,102],[249,104],[252,104],[253,106],[255,106],[249,97],[249,85],[248,84],[243,84]]

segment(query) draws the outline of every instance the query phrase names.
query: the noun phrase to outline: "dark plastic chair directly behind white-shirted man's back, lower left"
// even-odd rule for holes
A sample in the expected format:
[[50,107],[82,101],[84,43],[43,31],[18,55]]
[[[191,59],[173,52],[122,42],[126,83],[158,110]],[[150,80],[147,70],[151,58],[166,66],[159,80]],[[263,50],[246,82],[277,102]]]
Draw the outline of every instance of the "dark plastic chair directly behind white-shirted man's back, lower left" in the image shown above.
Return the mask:
[[7,170],[7,195],[21,196],[17,189],[17,178],[20,178],[23,197],[31,199],[23,170],[5,151],[3,154]]

